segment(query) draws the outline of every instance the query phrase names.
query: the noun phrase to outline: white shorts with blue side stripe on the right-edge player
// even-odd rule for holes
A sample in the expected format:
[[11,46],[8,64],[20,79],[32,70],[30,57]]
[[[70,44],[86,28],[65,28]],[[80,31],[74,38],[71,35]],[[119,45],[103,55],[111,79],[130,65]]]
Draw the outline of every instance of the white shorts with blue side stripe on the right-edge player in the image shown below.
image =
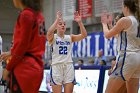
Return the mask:
[[116,61],[111,77],[120,76],[127,81],[140,77],[140,52],[119,53]]

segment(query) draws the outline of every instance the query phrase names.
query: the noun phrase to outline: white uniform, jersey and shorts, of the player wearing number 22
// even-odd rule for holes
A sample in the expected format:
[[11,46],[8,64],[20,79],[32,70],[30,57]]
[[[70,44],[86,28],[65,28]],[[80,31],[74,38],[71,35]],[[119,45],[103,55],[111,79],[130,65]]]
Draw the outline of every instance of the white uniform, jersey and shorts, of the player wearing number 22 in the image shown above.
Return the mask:
[[71,57],[72,41],[70,35],[64,38],[54,35],[52,45],[51,84],[75,83],[74,66]]

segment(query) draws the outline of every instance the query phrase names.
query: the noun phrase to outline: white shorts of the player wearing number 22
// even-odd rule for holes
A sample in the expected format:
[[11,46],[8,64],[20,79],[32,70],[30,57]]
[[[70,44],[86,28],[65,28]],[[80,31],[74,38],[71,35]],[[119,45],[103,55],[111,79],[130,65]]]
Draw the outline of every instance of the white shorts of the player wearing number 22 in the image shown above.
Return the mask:
[[73,63],[58,63],[51,66],[51,85],[76,83]]

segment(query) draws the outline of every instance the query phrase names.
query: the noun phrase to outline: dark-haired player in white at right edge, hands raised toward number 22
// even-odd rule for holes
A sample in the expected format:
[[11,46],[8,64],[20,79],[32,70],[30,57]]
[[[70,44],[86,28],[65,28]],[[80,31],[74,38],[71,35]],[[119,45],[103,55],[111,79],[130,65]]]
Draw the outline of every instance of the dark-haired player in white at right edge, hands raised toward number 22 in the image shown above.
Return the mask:
[[110,75],[105,93],[120,93],[126,83],[127,93],[138,93],[140,77],[140,31],[139,21],[134,16],[137,6],[134,0],[124,0],[121,18],[112,29],[107,27],[107,16],[102,15],[104,36],[111,38],[119,34],[117,63]]

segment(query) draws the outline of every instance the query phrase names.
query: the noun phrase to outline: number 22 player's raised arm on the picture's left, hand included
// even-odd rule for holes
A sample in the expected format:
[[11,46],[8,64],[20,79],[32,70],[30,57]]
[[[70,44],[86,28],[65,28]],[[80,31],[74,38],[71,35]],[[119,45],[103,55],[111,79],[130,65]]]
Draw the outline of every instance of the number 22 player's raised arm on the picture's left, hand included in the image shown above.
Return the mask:
[[59,20],[62,20],[62,13],[60,11],[57,12],[57,18],[54,21],[54,23],[51,25],[51,27],[48,29],[48,32],[47,32],[47,40],[50,43],[53,41],[54,32],[57,28],[57,24],[58,24]]

